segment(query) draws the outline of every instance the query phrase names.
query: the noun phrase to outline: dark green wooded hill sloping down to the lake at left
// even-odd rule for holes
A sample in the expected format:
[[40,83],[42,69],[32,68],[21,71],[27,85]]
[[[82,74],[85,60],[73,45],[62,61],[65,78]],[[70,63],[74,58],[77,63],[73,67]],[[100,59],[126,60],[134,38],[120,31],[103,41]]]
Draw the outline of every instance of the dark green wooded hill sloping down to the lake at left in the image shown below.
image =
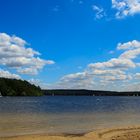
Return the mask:
[[27,81],[0,78],[0,92],[2,96],[42,96],[40,87]]

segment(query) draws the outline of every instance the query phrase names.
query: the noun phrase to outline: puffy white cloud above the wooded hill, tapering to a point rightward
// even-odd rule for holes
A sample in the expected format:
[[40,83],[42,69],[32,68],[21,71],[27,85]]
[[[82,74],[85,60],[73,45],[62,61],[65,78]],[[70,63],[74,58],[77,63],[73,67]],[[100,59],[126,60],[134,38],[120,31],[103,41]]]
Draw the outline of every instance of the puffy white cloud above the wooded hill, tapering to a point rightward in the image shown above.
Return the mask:
[[45,65],[54,64],[52,60],[40,58],[40,53],[27,48],[28,43],[15,35],[0,33],[0,65],[14,68],[20,74],[37,74]]

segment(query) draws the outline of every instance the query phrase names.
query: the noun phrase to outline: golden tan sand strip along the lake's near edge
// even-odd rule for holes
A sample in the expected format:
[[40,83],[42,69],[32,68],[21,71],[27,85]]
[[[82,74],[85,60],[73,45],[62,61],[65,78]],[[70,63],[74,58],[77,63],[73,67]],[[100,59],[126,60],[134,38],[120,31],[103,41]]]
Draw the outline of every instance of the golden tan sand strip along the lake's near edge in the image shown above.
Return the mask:
[[1,137],[0,140],[140,140],[140,127],[104,129],[87,134],[36,134]]

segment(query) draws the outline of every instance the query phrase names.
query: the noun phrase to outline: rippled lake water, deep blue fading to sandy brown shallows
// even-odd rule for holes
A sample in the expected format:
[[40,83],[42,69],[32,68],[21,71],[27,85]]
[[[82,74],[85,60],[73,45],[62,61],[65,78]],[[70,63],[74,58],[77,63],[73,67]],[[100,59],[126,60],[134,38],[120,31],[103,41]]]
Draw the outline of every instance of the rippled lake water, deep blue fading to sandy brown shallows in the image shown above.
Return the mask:
[[140,97],[1,97],[0,136],[140,124]]

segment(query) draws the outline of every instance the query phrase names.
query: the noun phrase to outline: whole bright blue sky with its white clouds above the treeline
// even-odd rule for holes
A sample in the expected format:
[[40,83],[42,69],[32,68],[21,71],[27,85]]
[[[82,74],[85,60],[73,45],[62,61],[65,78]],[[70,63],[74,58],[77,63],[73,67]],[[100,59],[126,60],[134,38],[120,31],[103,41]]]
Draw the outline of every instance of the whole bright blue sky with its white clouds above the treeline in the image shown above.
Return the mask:
[[139,13],[139,0],[0,0],[1,77],[43,88],[139,90]]

